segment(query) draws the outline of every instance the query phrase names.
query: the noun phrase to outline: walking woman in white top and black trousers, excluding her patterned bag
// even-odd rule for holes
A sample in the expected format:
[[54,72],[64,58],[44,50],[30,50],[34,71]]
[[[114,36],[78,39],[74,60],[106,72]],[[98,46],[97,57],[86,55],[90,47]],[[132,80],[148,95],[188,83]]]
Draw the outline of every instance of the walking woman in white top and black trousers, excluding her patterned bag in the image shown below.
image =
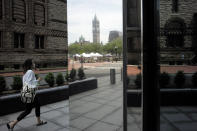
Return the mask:
[[[35,74],[33,72],[33,69],[35,69],[35,63],[32,59],[27,59],[23,64],[24,69],[24,75],[23,75],[23,87],[24,84],[30,84],[33,85],[34,88],[36,88],[39,81],[41,81],[41,78],[38,78],[36,80]],[[21,121],[25,116],[27,116],[29,113],[31,113],[32,108],[35,107],[35,114],[37,118],[37,126],[46,124],[46,121],[42,121],[40,119],[40,103],[37,95],[34,97],[34,101],[32,103],[25,103],[25,111],[22,112],[16,120],[11,121],[7,123],[8,129],[14,129],[14,126]]]

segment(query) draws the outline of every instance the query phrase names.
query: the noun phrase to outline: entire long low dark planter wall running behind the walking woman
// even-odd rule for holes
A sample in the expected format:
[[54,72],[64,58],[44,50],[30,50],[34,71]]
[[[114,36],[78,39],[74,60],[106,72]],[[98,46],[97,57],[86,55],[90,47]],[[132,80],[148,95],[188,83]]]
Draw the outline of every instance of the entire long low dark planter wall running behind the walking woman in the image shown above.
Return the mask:
[[[37,91],[40,104],[46,105],[69,99],[69,96],[96,89],[97,79],[89,78],[75,81],[65,86],[52,87]],[[20,100],[20,93],[0,97],[0,116],[24,110],[24,104]]]

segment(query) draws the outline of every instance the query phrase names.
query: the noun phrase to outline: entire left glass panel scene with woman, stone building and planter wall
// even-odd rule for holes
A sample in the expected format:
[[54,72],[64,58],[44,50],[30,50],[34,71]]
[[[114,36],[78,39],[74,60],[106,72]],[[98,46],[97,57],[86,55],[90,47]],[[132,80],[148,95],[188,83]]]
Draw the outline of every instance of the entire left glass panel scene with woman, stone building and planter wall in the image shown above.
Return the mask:
[[66,0],[0,0],[1,131],[68,127],[67,41]]

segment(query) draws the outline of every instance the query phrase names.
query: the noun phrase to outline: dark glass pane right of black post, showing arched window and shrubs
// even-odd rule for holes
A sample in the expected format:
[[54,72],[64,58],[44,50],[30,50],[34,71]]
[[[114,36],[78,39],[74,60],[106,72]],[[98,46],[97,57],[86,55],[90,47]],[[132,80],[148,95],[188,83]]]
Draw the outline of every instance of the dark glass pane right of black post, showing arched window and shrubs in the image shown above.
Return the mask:
[[160,130],[196,130],[197,1],[160,0]]

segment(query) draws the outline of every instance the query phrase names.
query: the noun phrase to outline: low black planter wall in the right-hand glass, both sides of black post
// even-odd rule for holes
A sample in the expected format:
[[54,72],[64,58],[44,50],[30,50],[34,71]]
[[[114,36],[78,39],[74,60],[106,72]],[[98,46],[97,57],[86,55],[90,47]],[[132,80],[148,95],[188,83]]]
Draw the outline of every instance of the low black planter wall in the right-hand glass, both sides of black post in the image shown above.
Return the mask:
[[[197,89],[160,89],[161,106],[196,106]],[[141,106],[141,90],[129,90],[127,93],[127,106]]]

